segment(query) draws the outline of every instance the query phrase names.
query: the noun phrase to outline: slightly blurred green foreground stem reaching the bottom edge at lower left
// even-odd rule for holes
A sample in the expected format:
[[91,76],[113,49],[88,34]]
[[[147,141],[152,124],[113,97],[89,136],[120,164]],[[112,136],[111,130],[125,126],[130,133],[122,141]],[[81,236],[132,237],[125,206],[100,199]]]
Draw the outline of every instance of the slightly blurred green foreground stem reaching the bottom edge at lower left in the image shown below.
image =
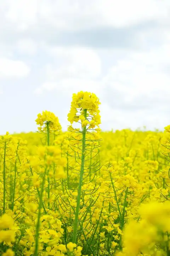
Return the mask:
[[40,198],[39,198],[39,209],[38,209],[38,217],[37,217],[37,224],[36,224],[36,230],[35,230],[35,252],[34,255],[38,256],[38,243],[39,243],[39,230],[40,230],[40,218],[41,218],[41,208],[43,206],[42,202],[42,196],[44,191],[44,183],[45,183],[45,173],[42,177],[42,183],[41,183],[41,192],[40,192]]

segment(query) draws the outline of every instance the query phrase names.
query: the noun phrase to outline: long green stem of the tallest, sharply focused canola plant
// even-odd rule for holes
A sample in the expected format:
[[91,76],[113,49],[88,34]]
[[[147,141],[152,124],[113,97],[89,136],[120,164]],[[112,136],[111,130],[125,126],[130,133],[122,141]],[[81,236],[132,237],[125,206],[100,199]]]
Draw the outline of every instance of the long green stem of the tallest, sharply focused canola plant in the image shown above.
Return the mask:
[[[85,119],[87,117],[87,110],[84,110]],[[73,243],[76,243],[77,240],[77,227],[78,227],[78,218],[80,210],[80,198],[81,198],[81,187],[83,183],[83,173],[84,173],[84,160],[85,160],[85,146],[86,146],[86,126],[83,128],[83,139],[82,139],[82,156],[81,156],[81,169],[80,169],[80,179],[78,187],[78,196],[77,196],[77,206],[75,210],[75,222],[73,229]]]

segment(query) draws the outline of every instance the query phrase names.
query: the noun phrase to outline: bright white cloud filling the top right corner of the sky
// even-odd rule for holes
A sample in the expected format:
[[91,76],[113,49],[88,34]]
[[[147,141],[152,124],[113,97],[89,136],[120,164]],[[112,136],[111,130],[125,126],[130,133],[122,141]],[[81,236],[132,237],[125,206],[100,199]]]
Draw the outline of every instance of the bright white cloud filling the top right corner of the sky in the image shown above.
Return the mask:
[[95,10],[103,23],[115,27],[126,27],[143,21],[168,18],[168,1],[159,0],[103,0],[96,1]]

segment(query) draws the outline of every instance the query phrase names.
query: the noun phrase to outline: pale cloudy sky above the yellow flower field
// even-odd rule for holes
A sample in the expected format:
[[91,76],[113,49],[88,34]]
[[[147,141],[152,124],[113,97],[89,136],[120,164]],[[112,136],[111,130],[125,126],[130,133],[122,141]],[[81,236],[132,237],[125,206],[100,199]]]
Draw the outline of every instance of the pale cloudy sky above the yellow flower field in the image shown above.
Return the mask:
[[0,134],[63,130],[72,94],[100,99],[101,128],[170,124],[169,0],[0,0]]

